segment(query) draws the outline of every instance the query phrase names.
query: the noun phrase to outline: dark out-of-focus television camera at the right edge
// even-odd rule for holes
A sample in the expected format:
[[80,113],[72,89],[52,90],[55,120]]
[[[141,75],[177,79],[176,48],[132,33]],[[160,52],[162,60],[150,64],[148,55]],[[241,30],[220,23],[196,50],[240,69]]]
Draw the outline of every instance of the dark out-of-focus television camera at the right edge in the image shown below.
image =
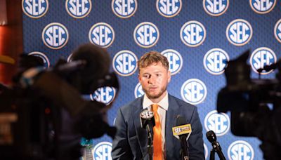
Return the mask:
[[276,79],[251,79],[249,51],[230,60],[225,69],[226,86],[217,97],[218,112],[231,113],[231,132],[261,140],[265,159],[280,159],[281,153],[281,61],[258,69],[259,74],[277,69]]

